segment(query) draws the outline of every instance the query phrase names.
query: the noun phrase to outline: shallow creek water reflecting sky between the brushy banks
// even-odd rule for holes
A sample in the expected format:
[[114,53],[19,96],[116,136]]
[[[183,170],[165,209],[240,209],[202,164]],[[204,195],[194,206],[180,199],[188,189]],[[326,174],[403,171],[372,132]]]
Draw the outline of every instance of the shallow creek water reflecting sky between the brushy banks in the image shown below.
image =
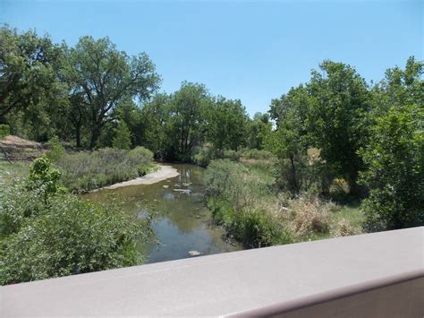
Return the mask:
[[[84,194],[94,202],[118,202],[124,211],[153,215],[157,243],[142,246],[147,263],[191,257],[190,251],[218,254],[241,250],[225,242],[225,232],[212,224],[205,200],[204,168],[173,164],[180,176],[154,185],[131,185]],[[185,184],[185,185],[183,185]],[[174,189],[189,190],[190,193]]]

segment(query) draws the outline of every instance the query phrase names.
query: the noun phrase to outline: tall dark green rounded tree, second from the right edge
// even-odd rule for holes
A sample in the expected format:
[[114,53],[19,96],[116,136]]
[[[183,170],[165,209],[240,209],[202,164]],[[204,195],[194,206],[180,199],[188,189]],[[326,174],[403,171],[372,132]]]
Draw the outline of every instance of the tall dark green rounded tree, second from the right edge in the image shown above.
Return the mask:
[[350,192],[358,195],[357,179],[363,168],[358,150],[369,135],[369,90],[349,65],[325,61],[320,69],[322,73],[312,72],[308,84],[308,130],[321,158],[347,181]]

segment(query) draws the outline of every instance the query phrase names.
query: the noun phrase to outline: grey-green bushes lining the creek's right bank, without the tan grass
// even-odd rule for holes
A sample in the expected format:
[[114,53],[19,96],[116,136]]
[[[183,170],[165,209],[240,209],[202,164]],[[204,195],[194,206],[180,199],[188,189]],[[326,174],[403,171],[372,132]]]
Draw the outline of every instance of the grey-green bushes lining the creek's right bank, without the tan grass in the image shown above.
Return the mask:
[[242,164],[214,160],[206,179],[213,218],[230,236],[249,248],[292,242],[284,224],[259,203],[269,195],[267,185]]

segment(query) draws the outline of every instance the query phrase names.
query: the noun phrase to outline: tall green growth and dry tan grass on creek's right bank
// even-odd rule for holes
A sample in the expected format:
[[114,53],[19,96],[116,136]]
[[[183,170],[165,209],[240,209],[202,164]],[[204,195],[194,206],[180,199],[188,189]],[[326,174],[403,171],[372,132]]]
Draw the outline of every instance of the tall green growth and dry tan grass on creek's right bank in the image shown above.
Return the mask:
[[276,193],[272,168],[263,162],[219,159],[208,166],[208,206],[228,236],[252,248],[360,233],[359,227],[340,219],[334,202],[317,195]]

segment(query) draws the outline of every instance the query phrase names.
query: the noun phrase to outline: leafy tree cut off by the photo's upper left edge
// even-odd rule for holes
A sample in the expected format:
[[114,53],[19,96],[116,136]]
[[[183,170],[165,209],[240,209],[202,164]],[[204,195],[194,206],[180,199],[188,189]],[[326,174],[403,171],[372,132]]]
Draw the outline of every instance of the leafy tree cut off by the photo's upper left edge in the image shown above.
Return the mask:
[[4,25],[0,29],[0,120],[13,109],[55,98],[61,61],[61,47],[47,36],[38,37],[33,30],[19,34]]

